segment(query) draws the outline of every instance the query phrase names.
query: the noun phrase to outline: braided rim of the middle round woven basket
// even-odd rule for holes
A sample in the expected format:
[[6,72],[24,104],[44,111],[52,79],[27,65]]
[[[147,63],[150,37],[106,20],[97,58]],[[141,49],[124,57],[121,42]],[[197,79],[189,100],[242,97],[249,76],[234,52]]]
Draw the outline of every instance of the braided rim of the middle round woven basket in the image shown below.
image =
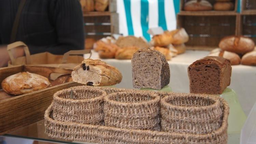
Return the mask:
[[[148,101],[141,101],[141,102],[118,102],[115,100],[109,99],[110,96],[112,95],[118,95],[118,94],[123,94],[123,93],[135,93],[135,94],[141,94],[141,95],[150,95],[151,97],[153,96],[154,98]],[[144,91],[122,91],[122,92],[113,92],[104,97],[104,101],[108,102],[111,105],[118,105],[118,106],[140,106],[140,105],[149,105],[153,103],[160,102],[160,96],[157,95],[156,93],[153,92],[144,92]]]

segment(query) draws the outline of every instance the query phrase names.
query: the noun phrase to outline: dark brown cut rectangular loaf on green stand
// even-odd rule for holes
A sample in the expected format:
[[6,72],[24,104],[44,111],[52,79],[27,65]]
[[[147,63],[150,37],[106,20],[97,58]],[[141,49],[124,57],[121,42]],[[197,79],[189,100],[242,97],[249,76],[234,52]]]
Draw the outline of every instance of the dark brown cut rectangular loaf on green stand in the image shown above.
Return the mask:
[[230,61],[207,56],[188,67],[190,93],[221,94],[230,85]]

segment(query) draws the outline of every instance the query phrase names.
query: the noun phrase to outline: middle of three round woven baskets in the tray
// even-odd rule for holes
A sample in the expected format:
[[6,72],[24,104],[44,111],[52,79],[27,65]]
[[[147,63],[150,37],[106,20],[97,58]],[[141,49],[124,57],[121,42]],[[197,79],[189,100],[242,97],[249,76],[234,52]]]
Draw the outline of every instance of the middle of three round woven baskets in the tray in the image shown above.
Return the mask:
[[105,126],[152,130],[160,124],[160,97],[143,91],[115,92],[104,98]]

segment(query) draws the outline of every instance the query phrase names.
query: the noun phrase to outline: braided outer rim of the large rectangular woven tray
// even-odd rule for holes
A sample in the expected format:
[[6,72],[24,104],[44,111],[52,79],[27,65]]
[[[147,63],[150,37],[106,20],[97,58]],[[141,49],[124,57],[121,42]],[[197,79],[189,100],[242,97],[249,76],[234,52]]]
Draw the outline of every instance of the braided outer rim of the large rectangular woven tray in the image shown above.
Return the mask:
[[[44,119],[48,123],[52,124],[59,124],[59,125],[65,125],[65,126],[76,126],[76,127],[90,127],[93,129],[101,129],[101,130],[112,130],[116,132],[126,132],[126,133],[143,133],[148,135],[154,135],[154,136],[170,136],[172,138],[198,138],[198,139],[208,139],[212,137],[212,134],[214,135],[220,135],[223,132],[226,131],[228,126],[228,114],[229,114],[229,106],[228,103],[222,99],[219,98],[219,100],[222,102],[223,105],[223,119],[222,119],[222,125],[217,130],[214,130],[211,133],[207,134],[191,134],[191,133],[176,133],[176,132],[163,132],[163,131],[151,131],[151,130],[136,130],[136,129],[125,129],[125,128],[116,128],[116,127],[109,127],[109,126],[95,126],[95,125],[88,125],[88,124],[81,124],[81,123],[75,123],[75,122],[67,122],[67,121],[57,121],[50,117],[50,112],[52,110],[53,104],[51,104],[45,111]],[[46,122],[45,122],[46,126]]]

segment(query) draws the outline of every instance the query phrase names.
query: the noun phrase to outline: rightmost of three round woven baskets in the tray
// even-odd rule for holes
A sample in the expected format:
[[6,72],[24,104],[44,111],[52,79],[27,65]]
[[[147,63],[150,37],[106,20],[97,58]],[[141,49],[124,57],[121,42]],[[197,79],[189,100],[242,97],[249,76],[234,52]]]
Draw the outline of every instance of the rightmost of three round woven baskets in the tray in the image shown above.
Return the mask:
[[221,102],[214,96],[175,93],[161,99],[162,131],[206,134],[222,125]]

